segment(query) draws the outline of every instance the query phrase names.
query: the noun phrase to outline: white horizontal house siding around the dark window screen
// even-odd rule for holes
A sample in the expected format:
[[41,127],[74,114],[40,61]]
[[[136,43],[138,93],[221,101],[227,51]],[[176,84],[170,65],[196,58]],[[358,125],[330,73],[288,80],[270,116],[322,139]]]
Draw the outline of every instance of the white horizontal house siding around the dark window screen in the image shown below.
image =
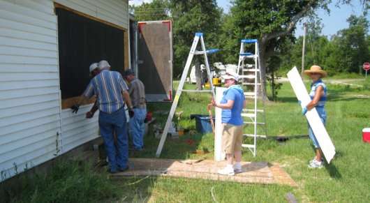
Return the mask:
[[[128,29],[127,0],[55,2]],[[57,33],[53,1],[0,0],[0,181],[98,137],[91,105],[61,110]]]

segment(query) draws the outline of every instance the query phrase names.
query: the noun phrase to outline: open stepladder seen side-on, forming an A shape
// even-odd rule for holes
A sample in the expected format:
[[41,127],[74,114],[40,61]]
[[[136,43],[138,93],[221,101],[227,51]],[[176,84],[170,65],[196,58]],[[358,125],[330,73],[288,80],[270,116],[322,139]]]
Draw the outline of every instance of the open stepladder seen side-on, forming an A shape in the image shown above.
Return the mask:
[[[195,50],[197,45],[198,45],[199,40],[200,40],[200,43],[202,45],[202,51]],[[212,82],[212,75],[211,75],[211,69],[209,68],[207,54],[218,52],[218,51],[219,50],[206,50],[205,49],[205,42],[203,40],[203,33],[200,33],[200,32],[195,33],[195,37],[194,37],[194,40],[193,40],[193,45],[191,45],[191,50],[190,50],[189,55],[188,55],[188,60],[186,61],[184,71],[182,72],[182,77],[181,77],[181,80],[179,82],[179,87],[177,87],[176,96],[173,100],[171,110],[170,110],[170,114],[168,114],[168,119],[165,122],[165,128],[163,129],[163,134],[162,134],[162,137],[161,137],[161,141],[159,142],[158,149],[156,151],[156,158],[159,158],[159,156],[161,156],[161,151],[162,151],[162,148],[163,148],[163,144],[165,143],[165,139],[167,137],[168,129],[170,128],[170,126],[172,126],[173,114],[175,114],[175,110],[176,110],[177,104],[179,103],[179,98],[181,96],[182,91],[210,92],[210,93],[212,93],[212,96],[215,98],[214,87],[213,87],[213,82]],[[191,66],[191,61],[193,60],[193,56],[195,54],[203,54],[203,56],[205,58],[205,68],[207,70],[210,90],[183,89],[186,77],[188,75],[188,70]]]

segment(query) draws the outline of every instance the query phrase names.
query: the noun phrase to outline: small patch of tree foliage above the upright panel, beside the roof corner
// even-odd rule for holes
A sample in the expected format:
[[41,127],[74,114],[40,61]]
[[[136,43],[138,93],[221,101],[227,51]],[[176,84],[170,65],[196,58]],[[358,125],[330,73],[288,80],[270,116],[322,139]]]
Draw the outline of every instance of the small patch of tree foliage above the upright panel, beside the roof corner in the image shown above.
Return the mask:
[[168,0],[153,0],[140,6],[130,6],[136,21],[169,20]]

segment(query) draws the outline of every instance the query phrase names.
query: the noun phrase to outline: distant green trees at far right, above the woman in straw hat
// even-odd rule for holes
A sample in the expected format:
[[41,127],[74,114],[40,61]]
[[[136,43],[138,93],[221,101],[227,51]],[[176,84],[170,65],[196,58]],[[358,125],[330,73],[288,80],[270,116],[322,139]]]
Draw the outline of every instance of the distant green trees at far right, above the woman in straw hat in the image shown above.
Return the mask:
[[[316,64],[327,70],[328,75],[336,73],[358,73],[362,71],[362,64],[369,61],[369,22],[362,15],[355,17],[351,15],[347,20],[350,25],[348,29],[342,29],[330,40],[327,36],[318,35],[315,27],[309,27],[306,37],[305,69]],[[293,66],[301,67],[302,42],[300,36],[289,53],[281,53],[281,68],[287,69]],[[288,65],[286,65],[288,64]]]

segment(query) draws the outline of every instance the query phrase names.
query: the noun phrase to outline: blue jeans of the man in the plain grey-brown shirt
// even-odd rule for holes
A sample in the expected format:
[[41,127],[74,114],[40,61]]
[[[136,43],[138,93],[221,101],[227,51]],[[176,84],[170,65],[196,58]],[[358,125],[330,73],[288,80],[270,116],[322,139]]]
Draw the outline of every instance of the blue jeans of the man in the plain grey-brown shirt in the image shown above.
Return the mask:
[[142,149],[144,144],[144,121],[147,116],[147,108],[139,109],[134,108],[135,114],[128,121],[128,126],[130,126],[130,138],[133,142],[134,149]]

